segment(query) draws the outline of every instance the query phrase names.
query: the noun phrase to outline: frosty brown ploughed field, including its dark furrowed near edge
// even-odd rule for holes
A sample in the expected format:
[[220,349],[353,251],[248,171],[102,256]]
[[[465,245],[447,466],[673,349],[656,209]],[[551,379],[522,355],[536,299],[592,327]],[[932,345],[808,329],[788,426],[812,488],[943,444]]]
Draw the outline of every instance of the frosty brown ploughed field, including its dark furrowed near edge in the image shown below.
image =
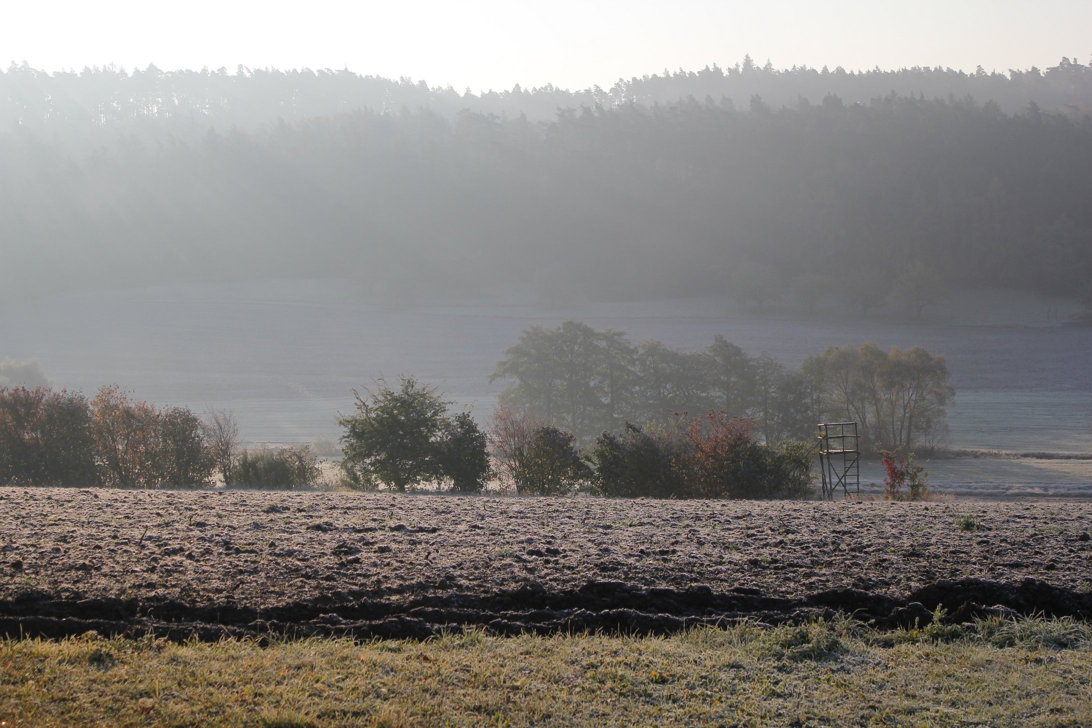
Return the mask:
[[[964,530],[961,528],[972,528]],[[1092,503],[0,488],[0,636],[1092,618]]]

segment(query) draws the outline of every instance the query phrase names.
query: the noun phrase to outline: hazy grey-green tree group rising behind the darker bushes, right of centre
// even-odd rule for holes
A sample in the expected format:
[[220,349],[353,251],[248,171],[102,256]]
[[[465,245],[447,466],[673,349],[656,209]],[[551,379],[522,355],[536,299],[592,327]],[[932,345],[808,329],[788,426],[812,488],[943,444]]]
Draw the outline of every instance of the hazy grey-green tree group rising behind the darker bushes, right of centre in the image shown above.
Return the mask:
[[820,421],[856,421],[867,446],[933,447],[947,433],[945,407],[954,396],[945,358],[919,346],[831,346],[791,369],[721,335],[687,351],[634,345],[624,332],[575,321],[524,330],[492,378],[509,381],[502,419],[514,410],[584,441],[715,411],[752,421],[767,443],[811,440]]

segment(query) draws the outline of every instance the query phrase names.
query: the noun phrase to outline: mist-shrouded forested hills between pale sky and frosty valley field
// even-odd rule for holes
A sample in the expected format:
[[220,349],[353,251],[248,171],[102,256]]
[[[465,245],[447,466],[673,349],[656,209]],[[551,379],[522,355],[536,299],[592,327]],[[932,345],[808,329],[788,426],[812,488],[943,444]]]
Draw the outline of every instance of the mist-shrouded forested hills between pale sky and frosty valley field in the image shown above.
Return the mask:
[[[1092,68],[664,71],[474,95],[351,71],[0,72],[0,297],[349,277],[378,299],[1081,296]],[[863,305],[863,309],[865,306]]]

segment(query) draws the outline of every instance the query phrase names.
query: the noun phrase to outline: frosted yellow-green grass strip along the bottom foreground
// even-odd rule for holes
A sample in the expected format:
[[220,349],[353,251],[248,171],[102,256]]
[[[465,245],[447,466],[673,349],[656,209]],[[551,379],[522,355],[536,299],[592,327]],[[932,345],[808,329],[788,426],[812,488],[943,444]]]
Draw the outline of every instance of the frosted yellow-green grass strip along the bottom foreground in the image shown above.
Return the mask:
[[0,725],[1090,726],[1092,625],[0,642]]

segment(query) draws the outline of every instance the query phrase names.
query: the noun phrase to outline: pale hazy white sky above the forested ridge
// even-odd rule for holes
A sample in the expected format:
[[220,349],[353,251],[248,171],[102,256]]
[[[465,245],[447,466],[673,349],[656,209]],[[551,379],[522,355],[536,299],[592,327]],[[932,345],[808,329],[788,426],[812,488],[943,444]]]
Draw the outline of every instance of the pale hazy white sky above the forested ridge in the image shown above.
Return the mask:
[[5,3],[3,62],[345,68],[474,91],[731,65],[1044,68],[1092,55],[1092,0]]

